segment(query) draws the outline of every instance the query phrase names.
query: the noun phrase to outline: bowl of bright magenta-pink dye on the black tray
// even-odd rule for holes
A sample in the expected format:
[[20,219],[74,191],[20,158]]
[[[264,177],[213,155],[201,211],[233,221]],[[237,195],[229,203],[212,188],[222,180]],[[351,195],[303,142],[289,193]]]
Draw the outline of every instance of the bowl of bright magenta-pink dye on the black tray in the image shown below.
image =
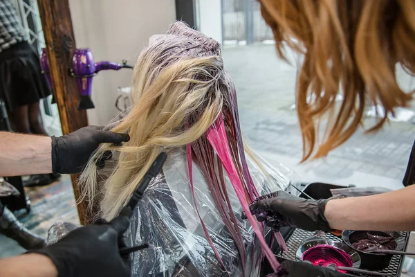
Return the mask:
[[332,264],[340,267],[360,267],[360,256],[356,251],[343,242],[324,238],[312,238],[303,242],[298,247],[295,258],[320,267]]

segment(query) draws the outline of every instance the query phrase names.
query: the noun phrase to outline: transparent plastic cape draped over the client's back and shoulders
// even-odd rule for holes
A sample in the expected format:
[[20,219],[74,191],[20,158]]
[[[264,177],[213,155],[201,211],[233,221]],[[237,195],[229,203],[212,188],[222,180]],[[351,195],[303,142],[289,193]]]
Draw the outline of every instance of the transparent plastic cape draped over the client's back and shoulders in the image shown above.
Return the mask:
[[[248,154],[246,158],[252,181],[260,195],[288,190],[292,181],[285,174],[261,157],[256,158],[261,161],[262,168]],[[282,170],[286,173],[288,169]],[[162,172],[151,181],[133,212],[127,231],[129,245],[148,243],[149,248],[131,253],[131,276],[243,276],[237,248],[224,227],[205,178],[195,163],[193,180],[199,213],[226,271],[214,255],[196,213],[187,156],[183,148],[168,153]],[[227,176],[225,182],[232,210],[246,245],[246,265],[252,265],[245,275],[259,276],[261,247],[250,223],[241,219],[241,204]],[[62,238],[70,231],[68,229],[74,228],[62,223],[55,224],[49,231],[48,242]]]

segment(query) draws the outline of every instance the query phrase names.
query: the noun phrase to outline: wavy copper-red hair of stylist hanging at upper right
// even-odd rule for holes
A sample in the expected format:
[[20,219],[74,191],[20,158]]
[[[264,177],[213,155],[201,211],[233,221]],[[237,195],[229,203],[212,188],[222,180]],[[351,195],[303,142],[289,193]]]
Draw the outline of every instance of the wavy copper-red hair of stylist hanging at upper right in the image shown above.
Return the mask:
[[[385,114],[369,132],[380,129],[394,108],[409,105],[412,91],[398,87],[395,66],[415,72],[415,1],[259,1],[278,55],[285,58],[286,46],[304,54],[296,94],[304,160],[347,141],[362,123],[365,105],[380,105]],[[340,91],[343,100],[335,107]],[[319,141],[324,114],[327,127]]]

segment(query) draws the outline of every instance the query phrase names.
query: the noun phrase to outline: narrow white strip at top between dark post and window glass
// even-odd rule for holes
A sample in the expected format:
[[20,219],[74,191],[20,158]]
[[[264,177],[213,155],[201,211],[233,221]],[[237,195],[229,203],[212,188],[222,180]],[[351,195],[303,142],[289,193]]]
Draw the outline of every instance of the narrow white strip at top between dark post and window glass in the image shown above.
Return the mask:
[[222,43],[221,0],[199,0],[198,4],[200,31]]

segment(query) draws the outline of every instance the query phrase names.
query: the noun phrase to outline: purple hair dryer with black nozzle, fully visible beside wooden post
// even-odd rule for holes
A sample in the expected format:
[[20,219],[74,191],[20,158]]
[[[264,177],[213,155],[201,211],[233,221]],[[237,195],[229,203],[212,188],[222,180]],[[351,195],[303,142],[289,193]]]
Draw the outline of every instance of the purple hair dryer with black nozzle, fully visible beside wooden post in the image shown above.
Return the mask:
[[122,68],[132,69],[133,66],[129,66],[125,62],[122,64],[107,61],[94,62],[89,48],[76,48],[72,58],[71,75],[77,78],[77,84],[80,89],[78,109],[93,109],[95,107],[91,99],[93,76],[102,70],[120,70]]

